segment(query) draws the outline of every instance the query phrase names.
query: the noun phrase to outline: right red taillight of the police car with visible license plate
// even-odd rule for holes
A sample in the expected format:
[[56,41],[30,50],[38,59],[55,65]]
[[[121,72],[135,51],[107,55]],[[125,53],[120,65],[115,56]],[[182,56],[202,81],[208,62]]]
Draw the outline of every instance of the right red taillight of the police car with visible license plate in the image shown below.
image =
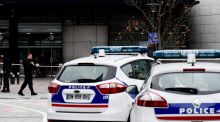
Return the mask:
[[105,83],[97,85],[97,88],[102,94],[115,94],[124,92],[127,87],[120,83]]

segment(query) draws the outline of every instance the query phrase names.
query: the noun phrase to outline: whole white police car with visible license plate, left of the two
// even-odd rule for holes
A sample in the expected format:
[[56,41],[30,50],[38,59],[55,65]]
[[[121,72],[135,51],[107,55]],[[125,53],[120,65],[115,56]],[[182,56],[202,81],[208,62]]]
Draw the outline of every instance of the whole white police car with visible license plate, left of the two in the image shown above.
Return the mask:
[[146,53],[143,46],[94,47],[65,63],[48,87],[48,120],[127,121],[135,97],[127,87],[140,89],[154,61]]

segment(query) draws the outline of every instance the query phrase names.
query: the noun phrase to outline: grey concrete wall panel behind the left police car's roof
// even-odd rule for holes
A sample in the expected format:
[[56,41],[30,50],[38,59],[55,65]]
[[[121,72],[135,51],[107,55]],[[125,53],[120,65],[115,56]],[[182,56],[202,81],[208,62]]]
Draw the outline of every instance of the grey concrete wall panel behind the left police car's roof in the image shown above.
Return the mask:
[[89,56],[93,46],[108,45],[108,27],[96,25],[73,26],[66,21],[63,26],[64,62]]

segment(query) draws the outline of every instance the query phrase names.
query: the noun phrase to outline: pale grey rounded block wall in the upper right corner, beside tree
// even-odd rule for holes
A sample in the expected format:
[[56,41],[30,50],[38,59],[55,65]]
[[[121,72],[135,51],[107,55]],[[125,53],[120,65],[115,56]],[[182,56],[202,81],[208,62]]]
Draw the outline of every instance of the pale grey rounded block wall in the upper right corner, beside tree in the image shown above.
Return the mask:
[[220,0],[199,0],[191,11],[192,48],[220,49]]

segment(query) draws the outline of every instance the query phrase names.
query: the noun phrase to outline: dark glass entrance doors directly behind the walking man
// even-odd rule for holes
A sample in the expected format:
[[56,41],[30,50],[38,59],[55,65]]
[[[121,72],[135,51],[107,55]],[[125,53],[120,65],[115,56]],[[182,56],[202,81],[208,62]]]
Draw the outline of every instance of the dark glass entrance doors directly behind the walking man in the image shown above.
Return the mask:
[[33,54],[34,62],[39,64],[34,72],[36,77],[52,77],[57,74],[59,64],[62,64],[62,48],[22,48],[20,63],[26,59],[29,52]]

